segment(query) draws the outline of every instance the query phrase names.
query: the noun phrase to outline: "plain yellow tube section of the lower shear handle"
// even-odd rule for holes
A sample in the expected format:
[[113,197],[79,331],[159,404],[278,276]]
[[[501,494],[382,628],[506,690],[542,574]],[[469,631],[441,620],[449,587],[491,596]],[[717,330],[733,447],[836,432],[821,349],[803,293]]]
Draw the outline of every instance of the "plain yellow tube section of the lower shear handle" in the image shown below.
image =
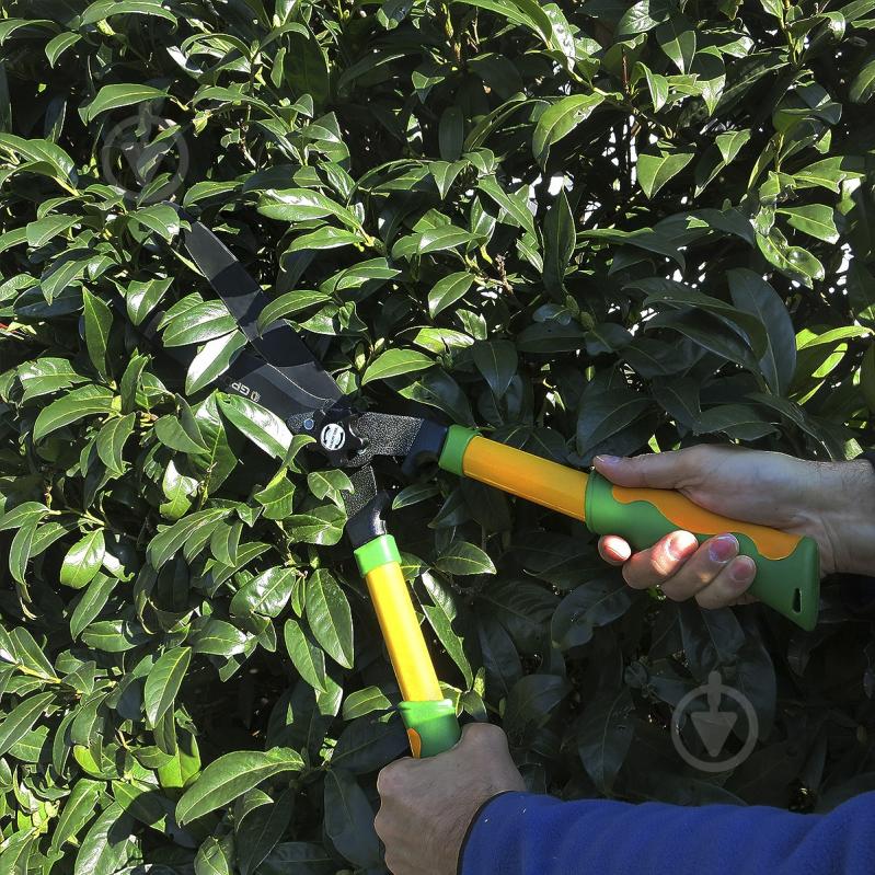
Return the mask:
[[402,696],[408,702],[444,699],[401,565],[378,565],[365,574],[365,583]]

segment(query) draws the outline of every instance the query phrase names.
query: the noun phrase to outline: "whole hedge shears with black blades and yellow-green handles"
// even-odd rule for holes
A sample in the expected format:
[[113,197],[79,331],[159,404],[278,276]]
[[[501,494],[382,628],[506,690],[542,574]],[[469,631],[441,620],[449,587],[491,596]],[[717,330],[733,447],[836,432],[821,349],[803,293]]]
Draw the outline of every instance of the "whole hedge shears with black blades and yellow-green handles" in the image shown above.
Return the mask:
[[205,224],[185,218],[185,249],[247,341],[221,378],[224,390],[266,407],[293,434],[311,435],[309,447],[348,472],[354,488],[344,494],[346,536],[401,689],[400,712],[415,757],[449,749],[460,729],[456,709],[438,683],[398,546],[387,531],[389,500],[378,486],[377,457],[392,457],[407,476],[436,461],[445,471],[580,520],[597,534],[622,536],[635,550],[677,529],[693,532],[700,543],[732,532],[739,552],[757,563],[750,592],[803,629],[814,628],[819,557],[813,539],[712,514],[677,492],[615,486],[595,471],[567,468],[470,428],[357,410],[288,322],[258,326],[270,299]]

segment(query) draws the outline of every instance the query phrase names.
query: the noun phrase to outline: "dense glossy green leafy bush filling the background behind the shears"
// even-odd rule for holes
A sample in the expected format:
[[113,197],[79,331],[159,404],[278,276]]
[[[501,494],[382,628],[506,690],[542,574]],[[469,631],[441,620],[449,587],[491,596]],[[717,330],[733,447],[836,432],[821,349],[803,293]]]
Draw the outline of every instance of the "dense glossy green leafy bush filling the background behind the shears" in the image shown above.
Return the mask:
[[[875,2],[820,7],[4,2],[0,870],[383,871],[405,736],[349,482],[215,390],[242,339],[162,199],[361,405],[574,465],[852,458]],[[187,370],[137,330],[159,311]],[[875,647],[840,582],[805,634],[633,595],[580,523],[475,483],[395,507],[447,691],[533,790],[811,810],[873,785]],[[668,728],[712,670],[760,726],[716,774]]]

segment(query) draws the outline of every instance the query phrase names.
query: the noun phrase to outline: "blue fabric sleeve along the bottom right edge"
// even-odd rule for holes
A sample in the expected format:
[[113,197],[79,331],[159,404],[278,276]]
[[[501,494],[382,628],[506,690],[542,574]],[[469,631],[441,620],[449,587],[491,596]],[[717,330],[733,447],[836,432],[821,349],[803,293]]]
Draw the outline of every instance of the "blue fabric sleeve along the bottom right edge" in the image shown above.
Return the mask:
[[474,820],[459,875],[872,875],[875,793],[826,815],[496,796]]

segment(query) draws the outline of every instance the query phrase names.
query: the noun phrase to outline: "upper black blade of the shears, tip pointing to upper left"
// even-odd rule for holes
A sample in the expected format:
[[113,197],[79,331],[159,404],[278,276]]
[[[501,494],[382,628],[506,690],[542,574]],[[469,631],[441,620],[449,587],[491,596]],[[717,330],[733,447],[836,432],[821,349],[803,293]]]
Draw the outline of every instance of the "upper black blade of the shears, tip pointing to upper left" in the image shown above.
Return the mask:
[[[264,359],[260,368],[262,378],[288,396],[284,406],[313,413],[339,401],[341,388],[286,322],[277,320],[264,332],[258,331],[258,314],[269,299],[212,231],[198,221],[191,226],[192,230],[185,233],[185,249]],[[274,410],[277,392],[262,394],[264,398],[258,403]],[[280,414],[278,410],[275,412]]]

